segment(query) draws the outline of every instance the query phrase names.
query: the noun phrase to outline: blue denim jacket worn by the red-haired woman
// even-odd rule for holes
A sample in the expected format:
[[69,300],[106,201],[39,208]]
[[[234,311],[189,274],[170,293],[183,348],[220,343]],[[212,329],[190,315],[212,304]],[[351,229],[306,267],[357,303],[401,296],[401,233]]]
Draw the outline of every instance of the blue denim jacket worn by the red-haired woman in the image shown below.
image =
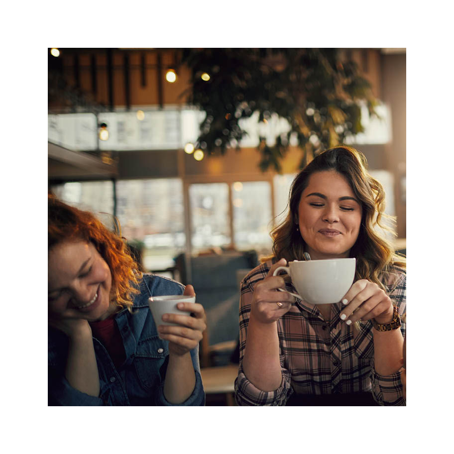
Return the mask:
[[[164,397],[164,378],[168,363],[168,341],[158,337],[148,306],[154,295],[181,295],[184,286],[172,279],[144,274],[140,294],[134,298],[132,314],[123,309],[115,322],[123,340],[126,359],[117,369],[103,344],[93,338],[98,363],[100,394],[89,396],[71,387],[65,378],[68,338],[48,329],[48,405],[168,405]],[[189,398],[179,405],[205,405],[200,376],[199,347],[191,350],[196,385]]]

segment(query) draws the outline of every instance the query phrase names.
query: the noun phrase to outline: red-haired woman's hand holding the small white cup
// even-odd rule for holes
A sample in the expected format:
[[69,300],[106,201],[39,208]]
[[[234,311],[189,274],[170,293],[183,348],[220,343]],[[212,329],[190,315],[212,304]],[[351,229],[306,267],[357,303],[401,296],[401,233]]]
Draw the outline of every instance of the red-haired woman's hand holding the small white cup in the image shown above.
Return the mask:
[[[194,287],[187,285],[183,295],[195,296]],[[182,315],[164,314],[162,319],[179,326],[159,325],[158,332],[161,339],[169,341],[169,352],[182,356],[202,340],[202,333],[207,328],[207,316],[203,306],[198,303],[178,303],[177,307],[184,311]],[[191,313],[191,317],[188,313]]]

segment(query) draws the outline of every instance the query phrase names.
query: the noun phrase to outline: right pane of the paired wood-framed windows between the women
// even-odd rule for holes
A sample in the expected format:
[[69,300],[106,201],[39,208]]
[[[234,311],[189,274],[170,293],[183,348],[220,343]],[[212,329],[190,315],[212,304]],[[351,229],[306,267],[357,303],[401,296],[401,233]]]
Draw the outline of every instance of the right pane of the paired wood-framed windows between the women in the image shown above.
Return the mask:
[[231,198],[235,247],[269,253],[272,228],[270,184],[267,181],[237,181],[231,185]]

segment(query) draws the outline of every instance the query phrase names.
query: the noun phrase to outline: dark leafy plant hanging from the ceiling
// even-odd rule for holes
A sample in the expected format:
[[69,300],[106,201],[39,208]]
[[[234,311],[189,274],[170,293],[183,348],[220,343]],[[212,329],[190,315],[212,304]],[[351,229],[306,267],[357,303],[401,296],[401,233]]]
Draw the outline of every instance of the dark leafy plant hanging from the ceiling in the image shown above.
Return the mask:
[[187,102],[206,114],[196,144],[205,153],[239,149],[246,134],[240,120],[254,113],[258,122],[275,114],[288,121],[290,129],[274,144],[259,137],[262,171],[280,172],[291,143],[301,148],[304,165],[363,132],[361,105],[376,115],[370,83],[339,49],[183,49],[182,62],[192,74]]

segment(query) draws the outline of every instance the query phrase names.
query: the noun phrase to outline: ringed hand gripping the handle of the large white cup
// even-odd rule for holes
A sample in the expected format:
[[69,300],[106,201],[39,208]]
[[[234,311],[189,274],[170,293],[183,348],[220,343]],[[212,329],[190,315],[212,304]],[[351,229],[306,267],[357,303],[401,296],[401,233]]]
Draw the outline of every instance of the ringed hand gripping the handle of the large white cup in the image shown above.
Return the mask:
[[[250,317],[259,323],[273,323],[286,314],[296,298],[288,292],[280,292],[278,288],[285,288],[285,281],[281,276],[273,276],[279,266],[286,266],[287,260],[281,258],[268,271],[265,279],[255,284],[251,302]],[[282,306],[279,307],[277,303]]]

